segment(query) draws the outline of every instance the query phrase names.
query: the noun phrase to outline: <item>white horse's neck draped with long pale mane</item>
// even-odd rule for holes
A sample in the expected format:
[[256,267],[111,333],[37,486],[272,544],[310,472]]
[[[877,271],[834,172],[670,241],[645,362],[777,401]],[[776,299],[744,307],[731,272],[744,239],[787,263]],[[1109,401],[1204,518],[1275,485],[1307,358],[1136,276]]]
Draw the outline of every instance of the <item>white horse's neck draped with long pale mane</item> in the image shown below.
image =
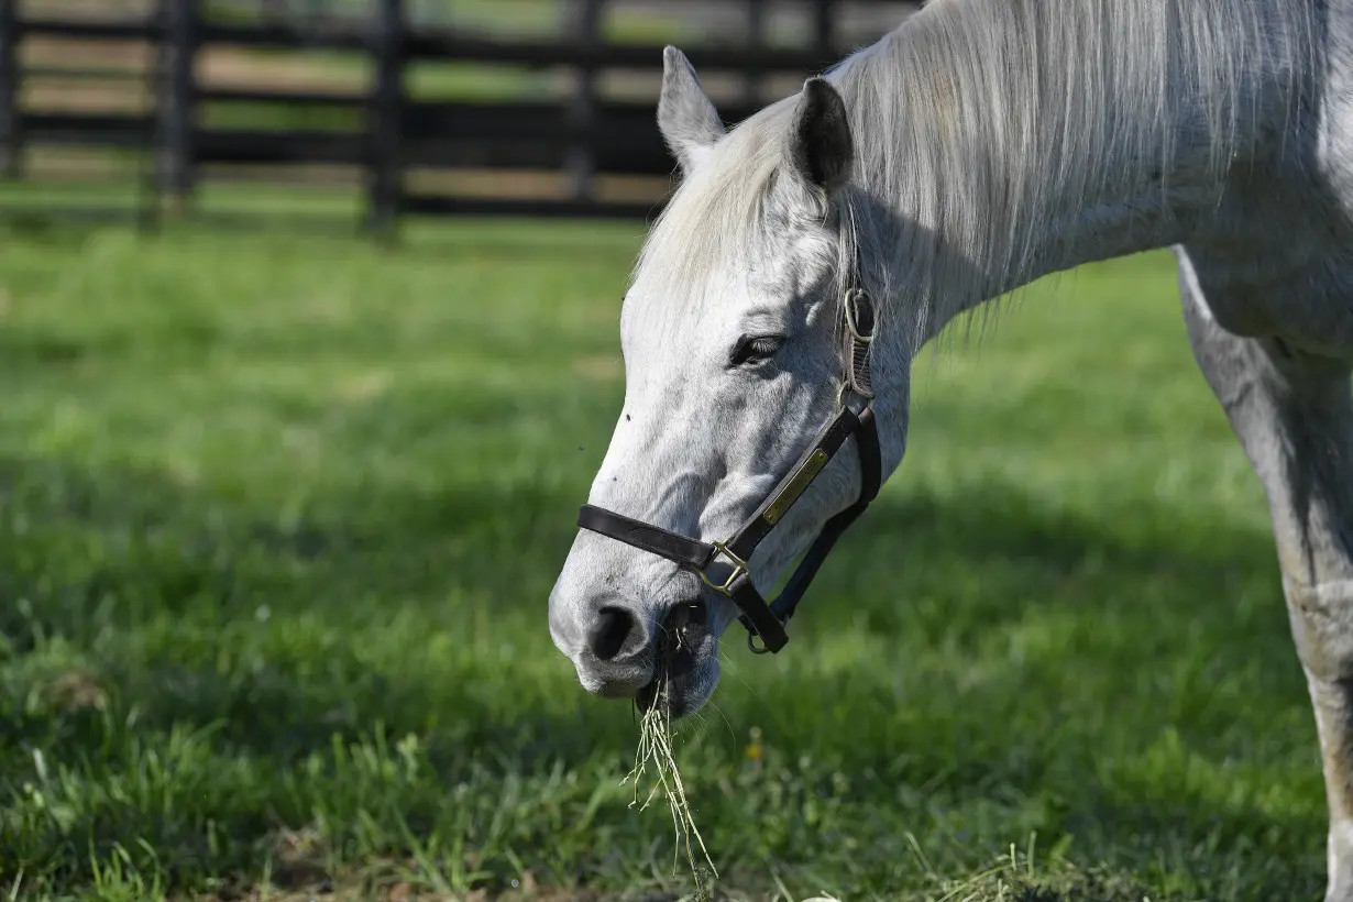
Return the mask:
[[[1303,0],[946,0],[833,74],[888,293],[924,343],[1043,275],[1184,241],[1281,154]],[[867,216],[863,216],[867,219]]]

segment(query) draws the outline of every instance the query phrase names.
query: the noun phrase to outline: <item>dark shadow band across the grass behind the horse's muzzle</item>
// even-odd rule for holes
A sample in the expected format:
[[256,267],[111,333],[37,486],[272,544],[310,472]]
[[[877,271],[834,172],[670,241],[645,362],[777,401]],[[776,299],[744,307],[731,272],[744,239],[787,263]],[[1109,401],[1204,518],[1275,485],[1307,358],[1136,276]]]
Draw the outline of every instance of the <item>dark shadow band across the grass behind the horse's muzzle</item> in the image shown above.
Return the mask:
[[[264,603],[272,613],[346,617],[371,613],[380,598],[438,606],[457,591],[501,599],[503,615],[543,625],[541,590],[548,592],[574,536],[575,500],[538,485],[510,496],[456,485],[336,495],[298,515],[154,473],[5,460],[0,588],[30,603],[0,610],[0,626],[26,650],[38,636],[93,642],[99,629],[135,629],[166,611],[206,613],[208,625],[226,626],[253,621]],[[1157,622],[1157,637],[1203,625],[1219,638],[1210,650],[1237,667],[1258,660],[1268,672],[1292,669],[1269,536],[1158,507],[1138,511],[1131,527],[1112,526],[1050,511],[1004,485],[954,498],[885,496],[833,553],[815,588],[820,602],[809,599],[797,632],[846,623],[878,636],[934,629],[953,640],[999,632],[1045,606],[1108,613],[1104,596],[1130,604],[1123,587],[1164,584],[1187,604],[1176,622]],[[525,560],[538,567],[525,571]],[[986,586],[939,622],[915,617],[912,599],[953,600],[946,591],[957,573]],[[1273,610],[1238,617],[1234,594],[1243,586],[1272,587]],[[456,615],[446,611],[448,622]],[[739,637],[729,638],[739,646]],[[285,745],[267,732],[250,741],[264,751]]]

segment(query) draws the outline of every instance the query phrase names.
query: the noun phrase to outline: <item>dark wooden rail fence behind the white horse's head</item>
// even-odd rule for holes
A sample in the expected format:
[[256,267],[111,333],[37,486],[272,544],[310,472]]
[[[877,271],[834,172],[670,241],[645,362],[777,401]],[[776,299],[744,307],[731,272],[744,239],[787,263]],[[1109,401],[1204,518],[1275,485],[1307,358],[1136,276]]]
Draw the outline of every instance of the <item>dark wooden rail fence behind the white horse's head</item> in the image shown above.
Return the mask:
[[[280,184],[296,168],[337,168],[360,179],[363,222],[375,233],[388,233],[405,215],[644,218],[656,212],[670,184],[674,161],[655,122],[664,41],[607,32],[606,14],[620,0],[555,4],[560,27],[544,38],[484,32],[453,19],[418,20],[411,0],[365,0],[360,15],[331,18],[239,16],[221,0],[145,1],[139,15],[95,18],[46,12],[42,0],[0,0],[0,172],[31,177],[32,164],[61,147],[120,153],[139,161],[138,210],[142,222],[154,223],[166,201],[191,208],[214,172],[253,168]],[[498,1],[499,9],[513,7],[511,0]],[[548,5],[537,0],[533,9]],[[693,0],[641,5],[652,22],[686,31],[698,19]],[[871,41],[913,4],[721,5],[725,14],[741,7],[744,28],[736,39],[706,34],[679,43],[708,87],[724,85],[710,93],[723,116],[736,122],[792,92],[852,45]],[[802,20],[797,42],[769,30],[787,7]],[[870,23],[854,39],[840,31],[848,12],[865,14]],[[713,31],[721,30],[727,24],[716,22]],[[76,46],[85,50],[70,50]],[[135,74],[100,68],[91,46],[118,46],[124,55],[127,47],[138,49],[143,65]],[[35,50],[41,47],[47,62]],[[208,57],[221,60],[223,51],[245,54],[269,84],[211,77]],[[269,66],[341,54],[365,69],[364,84],[348,77],[352,65],[340,77],[338,64],[318,69],[333,74],[321,77],[322,84],[295,87],[267,76]],[[479,69],[461,73],[459,93],[426,97],[411,81],[428,64]],[[505,70],[536,81],[515,92],[475,89]],[[34,88],[43,78],[83,80],[101,89],[139,80],[133,88],[143,103],[72,110]],[[308,122],[306,116],[322,124],[295,124]]]

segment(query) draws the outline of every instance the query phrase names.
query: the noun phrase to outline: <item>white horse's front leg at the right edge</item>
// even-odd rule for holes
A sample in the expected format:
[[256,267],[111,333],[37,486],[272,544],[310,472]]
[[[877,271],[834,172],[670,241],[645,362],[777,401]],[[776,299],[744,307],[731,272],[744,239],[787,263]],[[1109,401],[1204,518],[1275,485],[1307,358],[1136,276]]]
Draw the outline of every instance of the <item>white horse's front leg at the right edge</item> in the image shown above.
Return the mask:
[[1242,338],[1214,319],[1184,249],[1193,356],[1268,496],[1283,591],[1321,738],[1326,902],[1353,902],[1353,394],[1345,361]]

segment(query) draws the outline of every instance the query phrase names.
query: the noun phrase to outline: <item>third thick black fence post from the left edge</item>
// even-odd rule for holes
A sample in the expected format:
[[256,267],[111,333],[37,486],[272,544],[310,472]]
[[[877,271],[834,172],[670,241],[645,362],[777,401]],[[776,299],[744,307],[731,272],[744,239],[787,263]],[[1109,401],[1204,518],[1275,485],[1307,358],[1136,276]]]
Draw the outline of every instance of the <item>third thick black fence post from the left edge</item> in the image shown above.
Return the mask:
[[394,237],[403,192],[405,11],[403,0],[377,0],[372,42],[376,77],[367,115],[367,230]]

